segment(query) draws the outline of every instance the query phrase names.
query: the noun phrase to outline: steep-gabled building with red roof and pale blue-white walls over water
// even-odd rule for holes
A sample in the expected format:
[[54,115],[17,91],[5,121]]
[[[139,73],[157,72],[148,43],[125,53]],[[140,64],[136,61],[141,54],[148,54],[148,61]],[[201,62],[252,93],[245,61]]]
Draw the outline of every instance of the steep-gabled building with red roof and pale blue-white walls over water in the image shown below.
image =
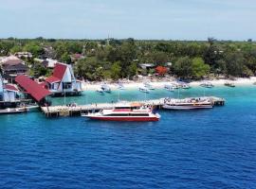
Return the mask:
[[74,76],[71,65],[58,62],[53,75],[46,78],[46,88],[55,95],[81,94],[82,82]]

